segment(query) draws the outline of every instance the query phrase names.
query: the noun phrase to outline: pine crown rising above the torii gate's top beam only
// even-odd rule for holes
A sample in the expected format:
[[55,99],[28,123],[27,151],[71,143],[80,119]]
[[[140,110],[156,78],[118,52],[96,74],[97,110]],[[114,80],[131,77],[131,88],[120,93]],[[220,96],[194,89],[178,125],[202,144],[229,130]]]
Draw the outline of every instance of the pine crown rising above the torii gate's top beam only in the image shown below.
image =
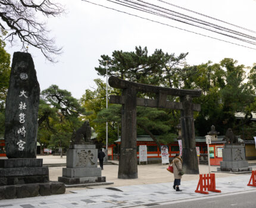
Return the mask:
[[148,49],[139,46],[135,48],[135,52],[114,51],[112,57],[102,55],[99,67],[95,67],[95,70],[98,75],[105,76],[105,67],[108,67],[109,75],[116,75],[124,80],[152,85],[161,83],[172,87],[173,71],[180,71],[186,55],[188,53],[181,53],[176,57],[174,53],[169,55],[161,49],[155,49],[152,55],[148,55]]

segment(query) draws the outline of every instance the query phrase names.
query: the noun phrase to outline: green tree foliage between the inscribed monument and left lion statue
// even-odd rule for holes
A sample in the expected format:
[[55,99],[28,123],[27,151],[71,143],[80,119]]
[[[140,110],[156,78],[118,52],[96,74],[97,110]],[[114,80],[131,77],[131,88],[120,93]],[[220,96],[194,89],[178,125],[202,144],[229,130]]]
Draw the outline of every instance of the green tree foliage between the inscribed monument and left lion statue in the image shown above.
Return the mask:
[[67,90],[52,85],[41,93],[38,141],[41,146],[67,148],[73,131],[82,125],[80,115],[88,115]]

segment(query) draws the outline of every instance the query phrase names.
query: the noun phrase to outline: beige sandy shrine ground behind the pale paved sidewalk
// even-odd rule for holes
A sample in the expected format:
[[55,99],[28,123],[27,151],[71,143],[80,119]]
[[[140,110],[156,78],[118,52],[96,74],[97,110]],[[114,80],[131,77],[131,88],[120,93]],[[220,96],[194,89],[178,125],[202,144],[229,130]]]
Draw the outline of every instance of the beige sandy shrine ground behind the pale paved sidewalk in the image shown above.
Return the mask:
[[[60,158],[60,156],[38,156],[38,158],[43,158],[43,164],[53,165],[65,163],[66,158]],[[126,185],[143,185],[143,184],[159,184],[164,182],[173,182],[173,174],[166,170],[168,165],[149,164],[149,165],[138,165],[138,178],[137,179],[118,179],[118,161],[111,161],[117,165],[104,165],[104,170],[102,170],[102,176],[106,177],[107,181],[114,182],[113,185],[107,185],[106,187],[120,187]],[[256,160],[249,160],[250,163],[256,163]],[[62,176],[62,169],[64,166],[49,167],[49,177],[51,181],[57,181],[58,177]],[[256,166],[252,166],[253,170],[256,170]],[[211,166],[211,171],[217,171],[217,166]],[[199,165],[200,174],[208,174],[208,165]],[[223,177],[234,177],[234,174],[226,173],[215,173],[216,178]],[[198,175],[188,175],[185,174],[182,177],[182,181],[198,180]],[[90,188],[104,188],[105,186],[95,186]],[[82,189],[82,188],[67,188],[66,193],[69,190]]]

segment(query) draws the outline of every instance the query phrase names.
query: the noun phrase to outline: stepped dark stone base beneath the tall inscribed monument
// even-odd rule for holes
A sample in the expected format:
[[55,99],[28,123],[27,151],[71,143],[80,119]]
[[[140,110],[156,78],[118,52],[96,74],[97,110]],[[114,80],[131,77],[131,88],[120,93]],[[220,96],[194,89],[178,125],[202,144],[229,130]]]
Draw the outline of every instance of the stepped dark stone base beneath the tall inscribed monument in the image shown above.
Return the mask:
[[49,181],[42,165],[36,158],[0,159],[0,200],[65,193],[65,185]]

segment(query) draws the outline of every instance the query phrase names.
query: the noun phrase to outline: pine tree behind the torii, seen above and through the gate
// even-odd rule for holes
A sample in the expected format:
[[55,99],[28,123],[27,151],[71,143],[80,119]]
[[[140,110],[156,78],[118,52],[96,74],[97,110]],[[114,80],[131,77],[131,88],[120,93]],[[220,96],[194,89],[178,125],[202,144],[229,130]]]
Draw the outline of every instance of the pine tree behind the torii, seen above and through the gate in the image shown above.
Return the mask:
[[[156,49],[152,55],[148,55],[147,48],[141,46],[135,48],[135,52],[114,51],[112,57],[102,55],[99,67],[95,68],[99,75],[117,75],[120,78],[138,83],[152,84],[166,87],[182,87],[185,80],[194,73],[192,70],[183,69],[186,65],[185,58],[188,53],[168,54]],[[184,72],[186,71],[186,73]],[[138,93],[138,97],[154,99],[156,94]],[[168,97],[175,100],[175,97]],[[137,109],[138,134],[161,135],[161,142],[170,143],[177,137],[176,125],[179,122],[179,112],[167,109],[140,108]],[[113,107],[102,109],[98,113],[96,122],[105,121],[115,124],[120,122],[120,109]],[[160,138],[158,137],[158,138]]]

